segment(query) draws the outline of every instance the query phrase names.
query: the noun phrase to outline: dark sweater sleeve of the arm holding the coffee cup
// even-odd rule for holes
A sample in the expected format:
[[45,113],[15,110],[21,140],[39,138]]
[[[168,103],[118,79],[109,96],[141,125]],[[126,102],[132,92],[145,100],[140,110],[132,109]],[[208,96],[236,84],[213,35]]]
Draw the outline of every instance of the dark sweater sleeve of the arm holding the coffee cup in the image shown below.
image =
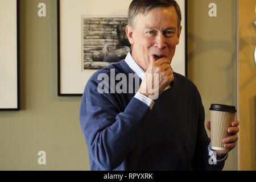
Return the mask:
[[224,167],[225,160],[222,162],[212,162],[212,158],[209,154],[208,146],[210,143],[210,138],[205,131],[204,126],[204,106],[201,102],[201,96],[198,93],[199,97],[199,123],[197,127],[197,141],[196,141],[196,150],[195,156],[193,158],[193,169],[195,170],[209,170],[209,171],[221,171]]

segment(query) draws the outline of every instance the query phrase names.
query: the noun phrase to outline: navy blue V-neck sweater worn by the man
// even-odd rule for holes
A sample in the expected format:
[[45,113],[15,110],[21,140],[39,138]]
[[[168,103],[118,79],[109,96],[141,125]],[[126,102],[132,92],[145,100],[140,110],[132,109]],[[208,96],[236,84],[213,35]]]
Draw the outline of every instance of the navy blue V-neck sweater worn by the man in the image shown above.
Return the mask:
[[[214,170],[204,107],[196,86],[174,73],[172,88],[161,93],[150,108],[134,93],[98,93],[100,73],[110,78],[134,71],[124,60],[100,69],[85,86],[80,124],[89,152],[91,170]],[[119,81],[115,81],[117,84]],[[141,82],[141,80],[140,80]],[[135,80],[134,80],[135,83]],[[129,85],[127,85],[129,86]]]

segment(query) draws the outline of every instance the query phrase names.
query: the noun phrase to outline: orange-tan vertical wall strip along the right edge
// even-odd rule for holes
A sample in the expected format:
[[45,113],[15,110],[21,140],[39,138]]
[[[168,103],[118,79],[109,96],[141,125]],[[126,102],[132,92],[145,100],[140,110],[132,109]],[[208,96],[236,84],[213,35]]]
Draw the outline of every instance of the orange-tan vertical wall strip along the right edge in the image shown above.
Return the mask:
[[256,0],[239,1],[239,119],[241,170],[256,170]]

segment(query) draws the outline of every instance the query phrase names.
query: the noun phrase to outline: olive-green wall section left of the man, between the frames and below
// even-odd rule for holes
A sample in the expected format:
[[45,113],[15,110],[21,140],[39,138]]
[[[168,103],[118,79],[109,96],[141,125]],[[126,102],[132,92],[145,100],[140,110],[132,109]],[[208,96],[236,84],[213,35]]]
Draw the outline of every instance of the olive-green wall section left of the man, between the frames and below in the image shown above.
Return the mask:
[[[81,97],[57,96],[57,6],[20,1],[20,111],[0,111],[0,170],[86,170]],[[46,151],[39,165],[38,151]]]

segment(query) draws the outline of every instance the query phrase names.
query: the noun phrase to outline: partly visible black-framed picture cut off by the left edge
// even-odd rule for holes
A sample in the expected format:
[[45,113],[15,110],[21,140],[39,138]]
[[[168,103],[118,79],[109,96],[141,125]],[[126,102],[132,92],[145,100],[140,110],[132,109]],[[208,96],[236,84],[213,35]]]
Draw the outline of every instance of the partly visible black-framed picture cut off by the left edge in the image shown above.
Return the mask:
[[0,1],[0,110],[19,110],[18,2]]

